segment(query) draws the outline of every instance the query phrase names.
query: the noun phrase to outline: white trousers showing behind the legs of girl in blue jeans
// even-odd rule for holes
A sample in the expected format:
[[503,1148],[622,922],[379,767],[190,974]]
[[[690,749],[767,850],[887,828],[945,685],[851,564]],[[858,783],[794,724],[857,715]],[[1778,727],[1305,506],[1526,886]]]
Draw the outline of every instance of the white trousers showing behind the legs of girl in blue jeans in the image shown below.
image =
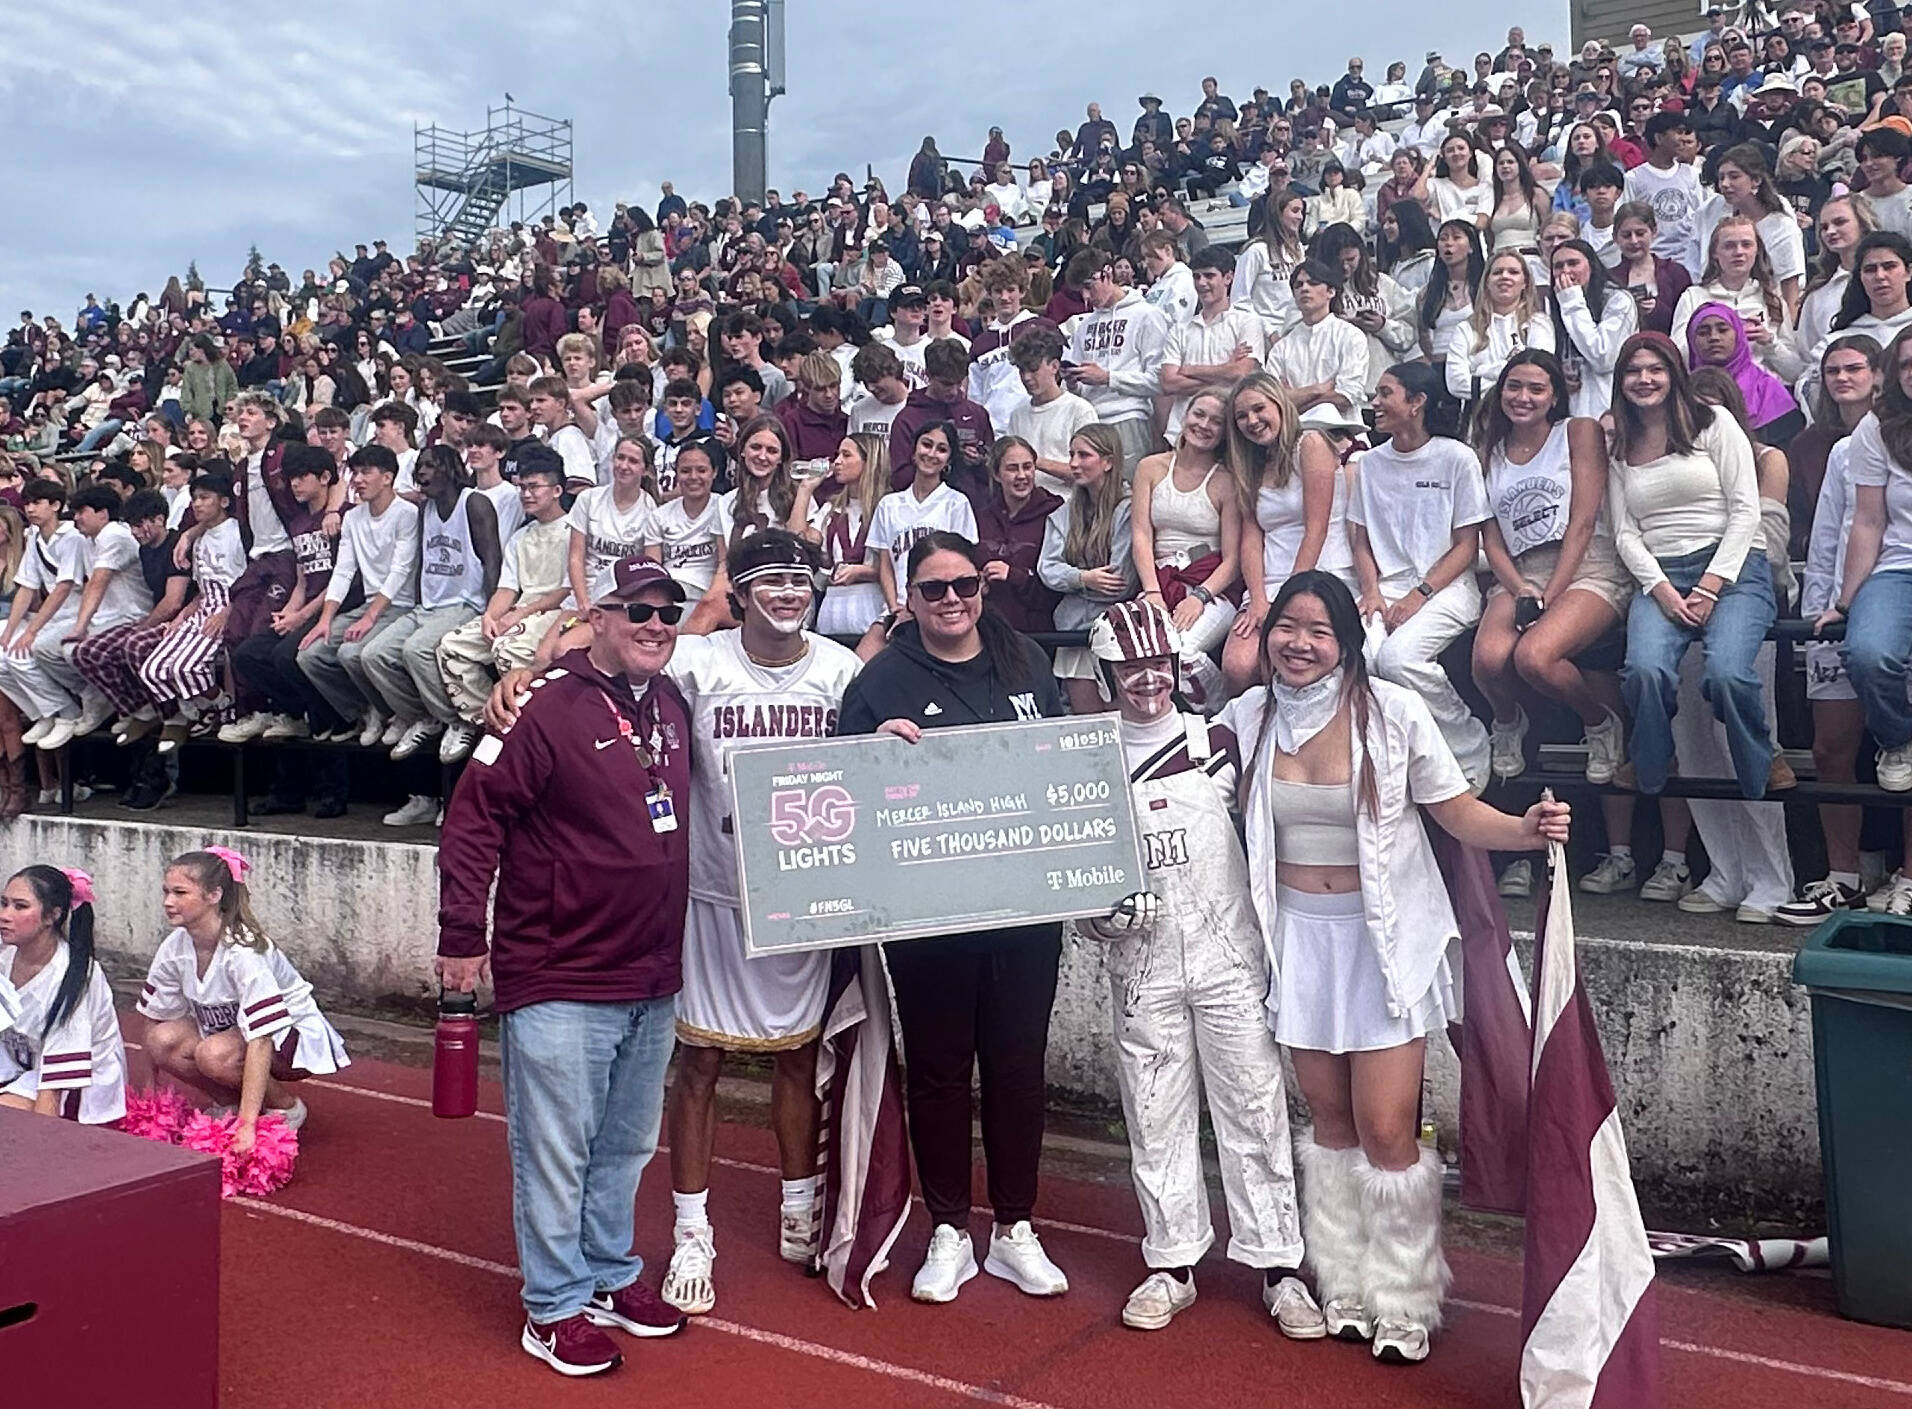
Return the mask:
[[[1772,642],[1759,648],[1753,669],[1767,700],[1767,719],[1778,719],[1772,702]],[[1730,778],[1732,755],[1727,728],[1700,698],[1704,652],[1688,650],[1679,673],[1679,713],[1673,715],[1673,753],[1688,778]],[[1694,797],[1692,824],[1700,830],[1713,870],[1700,885],[1721,904],[1774,910],[1792,900],[1792,849],[1786,845],[1784,803],[1725,803]]]

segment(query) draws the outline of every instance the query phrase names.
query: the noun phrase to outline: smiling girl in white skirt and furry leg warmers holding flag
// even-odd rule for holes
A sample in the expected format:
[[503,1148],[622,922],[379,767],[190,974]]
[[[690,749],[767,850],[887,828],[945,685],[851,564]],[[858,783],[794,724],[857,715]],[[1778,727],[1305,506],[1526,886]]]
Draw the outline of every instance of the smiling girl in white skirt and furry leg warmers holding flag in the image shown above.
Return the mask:
[[1298,1141],[1302,1237],[1331,1334],[1419,1361],[1440,1325],[1442,1164],[1415,1139],[1426,1034],[1457,1015],[1459,937],[1424,807],[1482,851],[1539,851],[1566,803],[1507,816],[1468,793],[1428,707],[1369,679],[1354,595],[1289,577],[1262,625],[1258,686],[1222,715],[1249,748],[1249,883],[1268,1013],[1314,1116]]

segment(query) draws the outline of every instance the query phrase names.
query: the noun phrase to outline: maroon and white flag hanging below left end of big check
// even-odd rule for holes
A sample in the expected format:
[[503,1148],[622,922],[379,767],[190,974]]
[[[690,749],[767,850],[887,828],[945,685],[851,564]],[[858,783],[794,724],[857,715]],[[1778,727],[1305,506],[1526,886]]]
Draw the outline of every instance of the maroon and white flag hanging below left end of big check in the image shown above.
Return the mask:
[[847,1306],[874,1308],[870,1281],[889,1268],[889,1248],[910,1216],[910,1132],[889,975],[878,944],[832,956],[816,1094],[824,1203],[818,1262]]

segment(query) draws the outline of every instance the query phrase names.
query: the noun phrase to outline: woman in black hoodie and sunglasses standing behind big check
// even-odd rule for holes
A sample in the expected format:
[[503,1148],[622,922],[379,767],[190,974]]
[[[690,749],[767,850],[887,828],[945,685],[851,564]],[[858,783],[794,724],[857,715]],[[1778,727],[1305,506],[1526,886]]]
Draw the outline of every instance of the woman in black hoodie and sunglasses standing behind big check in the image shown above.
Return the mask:
[[[843,694],[839,734],[1006,725],[1063,713],[1042,648],[983,604],[987,558],[960,533],[910,549],[910,618]],[[969,1080],[981,1063],[983,1157],[996,1224],[983,1269],[1032,1296],[1069,1279],[1029,1218],[1042,1159],[1042,1065],[1061,925],[981,929],[883,946],[902,1027],[916,1178],[935,1224],[910,1296],[950,1302],[975,1277],[969,1243]]]

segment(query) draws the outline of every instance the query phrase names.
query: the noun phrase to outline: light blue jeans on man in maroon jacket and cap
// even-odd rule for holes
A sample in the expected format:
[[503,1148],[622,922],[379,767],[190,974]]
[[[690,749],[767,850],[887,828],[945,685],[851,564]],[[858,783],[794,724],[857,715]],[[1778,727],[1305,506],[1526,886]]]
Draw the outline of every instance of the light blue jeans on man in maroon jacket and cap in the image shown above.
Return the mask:
[[543,1325],[637,1281],[637,1180],[658,1151],[677,998],[532,1004],[499,1023],[511,1225]]

